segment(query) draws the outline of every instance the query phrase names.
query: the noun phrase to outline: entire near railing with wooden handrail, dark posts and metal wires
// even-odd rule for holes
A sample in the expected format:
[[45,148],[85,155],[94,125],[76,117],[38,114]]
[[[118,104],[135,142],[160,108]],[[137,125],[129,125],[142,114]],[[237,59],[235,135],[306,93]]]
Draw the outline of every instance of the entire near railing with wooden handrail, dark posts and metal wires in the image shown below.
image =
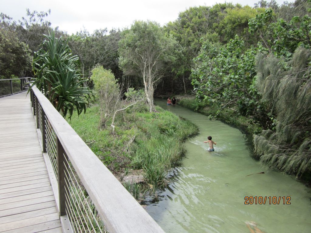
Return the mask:
[[30,99],[64,232],[164,232],[39,89]]

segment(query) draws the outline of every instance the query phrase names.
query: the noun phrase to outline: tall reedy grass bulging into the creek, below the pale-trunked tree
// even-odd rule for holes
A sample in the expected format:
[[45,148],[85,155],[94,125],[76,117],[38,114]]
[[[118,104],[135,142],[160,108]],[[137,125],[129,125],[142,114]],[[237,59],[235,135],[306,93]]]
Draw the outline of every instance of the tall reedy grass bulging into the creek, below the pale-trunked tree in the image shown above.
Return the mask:
[[185,152],[183,141],[198,131],[190,121],[160,107],[156,109],[158,113],[151,115],[136,113],[142,130],[131,149],[132,167],[143,169],[144,179],[153,190],[165,184],[167,170],[178,163]]

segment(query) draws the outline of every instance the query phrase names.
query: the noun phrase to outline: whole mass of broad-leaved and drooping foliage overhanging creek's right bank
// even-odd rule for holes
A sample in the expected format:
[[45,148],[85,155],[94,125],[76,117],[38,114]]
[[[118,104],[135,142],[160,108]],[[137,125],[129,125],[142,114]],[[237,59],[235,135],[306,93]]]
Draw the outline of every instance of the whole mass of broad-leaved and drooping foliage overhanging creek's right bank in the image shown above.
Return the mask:
[[211,117],[229,109],[260,126],[255,154],[301,176],[311,169],[311,18],[294,16],[287,22],[270,8],[248,25],[258,44],[238,36],[225,45],[203,43],[194,59],[194,90],[202,107],[217,110]]

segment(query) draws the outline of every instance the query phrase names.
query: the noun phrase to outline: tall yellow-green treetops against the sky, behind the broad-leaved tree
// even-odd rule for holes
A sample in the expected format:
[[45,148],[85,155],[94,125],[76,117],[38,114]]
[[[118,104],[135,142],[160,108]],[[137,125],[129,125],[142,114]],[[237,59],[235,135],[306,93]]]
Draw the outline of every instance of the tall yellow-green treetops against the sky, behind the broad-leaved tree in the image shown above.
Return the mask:
[[[245,38],[246,43],[256,44],[257,41],[248,33],[248,20],[262,11],[262,8],[254,9],[248,6],[241,7],[239,4],[222,3],[212,7],[190,7],[181,12],[176,21],[169,22],[165,26],[165,30],[177,39],[181,48],[181,54],[172,67],[174,79],[180,80],[184,88],[190,86],[188,77],[191,74],[193,58],[200,53],[204,43],[224,44],[238,34]],[[186,81],[184,77],[187,77]],[[165,81],[165,85],[170,86],[169,80]],[[178,82],[175,82],[175,85],[176,83]],[[174,88],[180,89],[180,85]]]

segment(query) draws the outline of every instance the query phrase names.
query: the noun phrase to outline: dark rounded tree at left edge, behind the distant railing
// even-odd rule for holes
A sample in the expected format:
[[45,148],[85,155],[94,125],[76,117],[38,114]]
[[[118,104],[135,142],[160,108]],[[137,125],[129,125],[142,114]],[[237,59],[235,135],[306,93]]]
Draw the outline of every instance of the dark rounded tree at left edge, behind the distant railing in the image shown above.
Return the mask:
[[30,70],[30,50],[20,42],[16,34],[0,28],[0,77],[21,76]]

